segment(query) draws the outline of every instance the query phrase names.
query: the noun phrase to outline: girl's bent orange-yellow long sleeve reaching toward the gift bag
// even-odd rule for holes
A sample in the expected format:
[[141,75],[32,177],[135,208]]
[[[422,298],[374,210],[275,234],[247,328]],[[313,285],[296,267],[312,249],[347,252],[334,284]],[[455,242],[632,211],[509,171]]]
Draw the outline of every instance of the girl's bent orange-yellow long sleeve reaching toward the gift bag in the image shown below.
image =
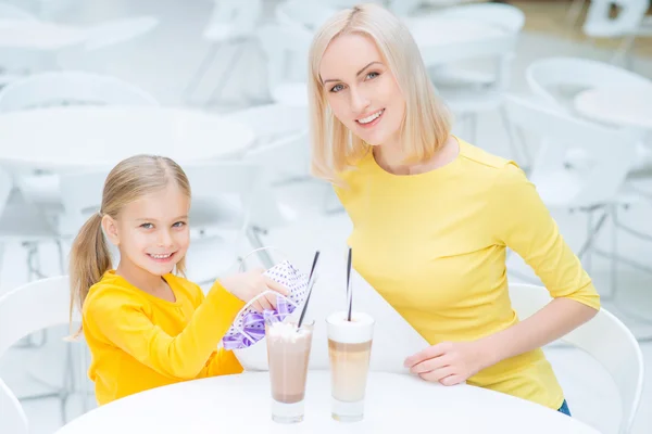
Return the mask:
[[86,315],[114,345],[154,371],[191,380],[205,368],[243,303],[215,282],[186,328],[171,336],[151,322],[142,306],[123,293],[103,294]]

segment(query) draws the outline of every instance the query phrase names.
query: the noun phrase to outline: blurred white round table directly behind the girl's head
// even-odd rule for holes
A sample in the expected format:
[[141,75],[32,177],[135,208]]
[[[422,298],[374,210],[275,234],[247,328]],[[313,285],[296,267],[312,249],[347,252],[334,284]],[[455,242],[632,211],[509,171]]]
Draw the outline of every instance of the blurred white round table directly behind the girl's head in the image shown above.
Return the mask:
[[159,106],[67,106],[0,114],[0,164],[68,170],[113,167],[139,153],[179,164],[244,151],[254,132],[205,112]]

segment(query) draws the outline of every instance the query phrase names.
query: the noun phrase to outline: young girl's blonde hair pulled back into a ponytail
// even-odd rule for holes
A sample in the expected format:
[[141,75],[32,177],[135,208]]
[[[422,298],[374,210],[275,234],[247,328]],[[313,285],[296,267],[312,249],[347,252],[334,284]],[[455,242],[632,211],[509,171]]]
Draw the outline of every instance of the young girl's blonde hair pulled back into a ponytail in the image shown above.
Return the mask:
[[[171,182],[190,197],[186,174],[178,164],[164,156],[136,155],[120,162],[109,173],[100,210],[90,216],[73,242],[70,261],[71,322],[75,306],[82,309],[90,286],[112,268],[111,253],[102,231],[103,216],[115,219],[125,205],[161,191]],[[177,263],[176,272],[185,272],[185,258]],[[80,333],[82,328],[73,337]]]

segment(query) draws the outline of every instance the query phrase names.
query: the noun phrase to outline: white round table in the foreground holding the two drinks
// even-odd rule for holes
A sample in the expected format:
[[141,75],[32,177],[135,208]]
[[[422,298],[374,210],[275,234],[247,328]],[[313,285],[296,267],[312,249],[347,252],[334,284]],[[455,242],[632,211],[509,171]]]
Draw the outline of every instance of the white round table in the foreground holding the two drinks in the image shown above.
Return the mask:
[[267,372],[196,380],[99,407],[58,434],[598,433],[576,419],[509,395],[389,373],[369,374],[364,420],[347,424],[331,419],[329,391],[329,373],[311,371],[304,421],[286,425],[271,420]]

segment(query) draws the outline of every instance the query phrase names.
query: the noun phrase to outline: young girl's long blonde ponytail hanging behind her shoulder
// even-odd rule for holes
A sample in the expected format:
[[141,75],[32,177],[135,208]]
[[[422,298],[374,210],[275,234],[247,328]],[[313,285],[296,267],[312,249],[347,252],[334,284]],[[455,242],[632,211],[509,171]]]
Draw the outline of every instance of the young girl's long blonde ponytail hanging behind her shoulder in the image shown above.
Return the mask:
[[[95,213],[84,224],[71,251],[71,324],[75,308],[82,310],[90,286],[98,283],[112,267],[111,252],[102,232],[102,215]],[[82,334],[82,328],[72,336]]]

